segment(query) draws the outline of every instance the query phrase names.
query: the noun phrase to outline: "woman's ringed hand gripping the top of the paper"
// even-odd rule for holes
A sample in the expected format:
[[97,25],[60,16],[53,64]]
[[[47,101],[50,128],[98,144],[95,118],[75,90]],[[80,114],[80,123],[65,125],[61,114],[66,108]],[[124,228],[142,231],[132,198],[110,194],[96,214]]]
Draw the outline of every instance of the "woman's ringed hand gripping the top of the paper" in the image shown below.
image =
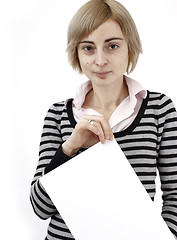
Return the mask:
[[87,115],[76,124],[71,136],[62,144],[62,148],[65,154],[72,156],[80,148],[91,147],[99,141],[104,144],[105,139],[112,141],[113,138],[111,127],[104,117]]

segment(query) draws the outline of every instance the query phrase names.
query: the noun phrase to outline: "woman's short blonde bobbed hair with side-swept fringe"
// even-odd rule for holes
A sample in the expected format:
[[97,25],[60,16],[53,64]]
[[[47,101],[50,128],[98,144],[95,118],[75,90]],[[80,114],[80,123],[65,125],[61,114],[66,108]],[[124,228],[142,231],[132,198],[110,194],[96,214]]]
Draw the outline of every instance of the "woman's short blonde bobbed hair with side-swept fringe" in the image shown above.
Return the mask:
[[71,66],[82,73],[77,47],[79,42],[96,30],[102,23],[115,20],[122,30],[128,45],[128,66],[132,72],[142,53],[140,37],[133,18],[127,9],[115,0],[90,0],[72,18],[68,27],[68,59]]

